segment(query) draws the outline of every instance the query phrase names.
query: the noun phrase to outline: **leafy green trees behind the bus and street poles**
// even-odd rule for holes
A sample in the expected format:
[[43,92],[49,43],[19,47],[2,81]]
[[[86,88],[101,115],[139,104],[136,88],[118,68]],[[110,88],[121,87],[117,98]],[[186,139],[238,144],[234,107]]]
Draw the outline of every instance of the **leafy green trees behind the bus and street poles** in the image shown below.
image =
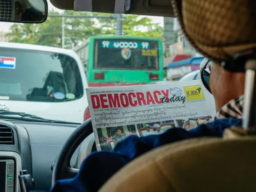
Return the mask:
[[[50,10],[48,14],[59,14]],[[88,12],[64,11],[64,14],[84,16],[114,16]],[[125,15],[123,18],[123,35],[162,38],[163,29],[159,23],[152,23],[150,18],[139,15]],[[65,48],[76,46],[90,36],[115,35],[116,21],[113,18],[65,18]],[[143,32],[142,30],[143,29]],[[10,27],[7,35],[12,42],[61,47],[62,18],[48,17],[41,24],[17,24]]]

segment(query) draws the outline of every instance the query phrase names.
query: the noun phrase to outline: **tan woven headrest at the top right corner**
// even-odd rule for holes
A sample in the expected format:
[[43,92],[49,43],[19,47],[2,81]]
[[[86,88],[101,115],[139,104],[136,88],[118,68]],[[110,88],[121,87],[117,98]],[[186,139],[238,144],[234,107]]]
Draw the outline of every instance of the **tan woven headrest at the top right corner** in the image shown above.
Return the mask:
[[171,0],[185,37],[208,59],[221,62],[256,48],[256,0]]

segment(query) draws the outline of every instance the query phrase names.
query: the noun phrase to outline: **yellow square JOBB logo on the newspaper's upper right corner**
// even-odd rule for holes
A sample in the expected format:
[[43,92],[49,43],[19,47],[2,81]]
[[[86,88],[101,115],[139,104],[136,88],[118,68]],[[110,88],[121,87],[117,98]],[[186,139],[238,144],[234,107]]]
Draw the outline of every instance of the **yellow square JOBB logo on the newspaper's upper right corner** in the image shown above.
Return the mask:
[[183,88],[187,97],[187,101],[205,99],[205,95],[201,85],[194,85],[194,86],[188,86]]

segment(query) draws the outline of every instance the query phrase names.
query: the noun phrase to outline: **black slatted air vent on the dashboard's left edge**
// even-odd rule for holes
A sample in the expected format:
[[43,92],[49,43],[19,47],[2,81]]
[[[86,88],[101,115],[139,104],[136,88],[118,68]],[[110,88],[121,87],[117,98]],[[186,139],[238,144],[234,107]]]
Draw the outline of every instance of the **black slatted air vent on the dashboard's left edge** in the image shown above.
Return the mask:
[[11,128],[0,124],[0,145],[14,145],[14,133]]

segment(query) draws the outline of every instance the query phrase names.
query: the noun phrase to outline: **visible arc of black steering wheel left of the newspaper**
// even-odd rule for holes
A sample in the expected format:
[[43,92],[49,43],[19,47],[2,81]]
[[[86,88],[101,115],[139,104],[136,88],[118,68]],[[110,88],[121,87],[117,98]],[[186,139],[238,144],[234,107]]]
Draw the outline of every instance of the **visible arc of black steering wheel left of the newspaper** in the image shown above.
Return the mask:
[[83,122],[71,133],[56,157],[52,170],[51,186],[59,179],[73,178],[77,175],[79,169],[72,168],[70,160],[80,143],[91,133],[93,133],[91,118]]

